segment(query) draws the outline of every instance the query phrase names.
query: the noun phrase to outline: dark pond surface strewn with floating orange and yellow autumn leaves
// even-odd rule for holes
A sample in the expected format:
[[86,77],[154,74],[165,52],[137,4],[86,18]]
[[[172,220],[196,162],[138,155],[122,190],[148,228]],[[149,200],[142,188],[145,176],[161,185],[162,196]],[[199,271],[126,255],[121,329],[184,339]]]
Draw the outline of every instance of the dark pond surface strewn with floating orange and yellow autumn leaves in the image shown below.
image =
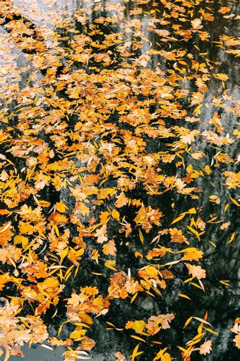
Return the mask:
[[[66,313],[67,299],[80,287],[96,286],[110,306],[107,313],[89,311],[93,324],[87,336],[96,346],[83,349],[89,354],[81,355],[83,359],[112,361],[120,351],[130,360],[138,343],[143,353],[137,360],[153,360],[165,347],[177,360],[238,359],[232,341],[235,334],[229,331],[239,316],[240,297],[238,2],[21,0],[0,4],[4,9],[0,13],[0,120],[7,135],[0,147],[10,161],[1,167],[9,171],[8,177],[19,175],[25,182],[9,186],[15,196],[6,195],[8,188],[3,188],[1,209],[10,213],[0,216],[0,226],[11,220],[12,237],[20,234],[27,236],[28,245],[36,242],[32,248],[13,239],[2,245],[8,249],[14,244],[25,258],[19,256],[12,263],[0,256],[3,273],[22,278],[19,285],[6,283],[1,297],[21,297],[24,307],[16,317],[41,315],[50,338],[57,337],[68,320],[58,336],[66,340],[74,322],[87,322],[74,318],[71,310]],[[192,23],[194,19],[201,21]],[[189,139],[184,138],[187,135]],[[50,164],[54,166],[48,168]],[[8,179],[2,175],[1,183]],[[118,207],[116,196],[123,192],[127,201]],[[67,208],[55,212],[56,203]],[[136,220],[141,204],[145,213]],[[23,205],[41,208],[35,220],[25,216]],[[195,212],[189,213],[190,209]],[[162,212],[160,220],[151,213],[146,224],[144,217],[151,210]],[[55,222],[50,218],[54,212],[66,215],[67,221]],[[107,232],[103,232],[103,212],[108,212]],[[184,212],[188,213],[174,223]],[[31,224],[33,231],[21,231],[21,222]],[[197,226],[199,222],[203,225]],[[108,237],[103,242],[94,229],[98,223],[101,237]],[[175,227],[182,231],[181,240],[174,241]],[[82,237],[84,243],[73,237]],[[102,249],[109,240],[115,251],[107,254]],[[149,251],[159,246],[171,248],[172,253],[149,257]],[[84,254],[77,258],[73,252],[64,258],[65,247],[84,249]],[[183,253],[178,252],[187,247],[201,250],[203,257],[166,265],[179,260]],[[98,262],[92,258],[93,249],[99,253]],[[48,265],[47,276],[34,276],[23,265],[30,262],[30,251]],[[106,266],[107,260],[112,263]],[[61,268],[54,273],[49,269],[58,262],[67,269],[73,265],[65,279]],[[201,266],[206,277],[184,283],[191,277],[186,262]],[[149,265],[173,273],[174,277],[166,277],[166,288],[158,278],[145,277],[151,286],[138,291],[135,299],[135,292],[111,298],[111,276],[123,271],[140,282],[139,270]],[[47,277],[56,277],[65,288],[55,295],[56,304],[52,299],[41,311],[46,300],[38,293],[29,301],[24,287],[38,292],[36,285]],[[34,313],[37,307],[38,314]],[[145,334],[125,329],[130,320],[147,323],[158,314],[174,314],[169,329],[163,327],[153,336],[146,335],[146,328]],[[212,341],[212,352],[206,356],[196,350],[182,357],[178,348],[187,349],[186,343],[197,335],[201,321],[193,319],[183,329],[191,316],[207,320],[211,327],[202,326],[214,331],[203,329],[200,344]],[[60,360],[69,346],[44,344],[53,350],[37,343],[29,349],[25,344],[25,359]],[[77,339],[71,348],[79,344]],[[66,360],[76,359],[69,357]],[[18,359],[10,357],[10,361]]]

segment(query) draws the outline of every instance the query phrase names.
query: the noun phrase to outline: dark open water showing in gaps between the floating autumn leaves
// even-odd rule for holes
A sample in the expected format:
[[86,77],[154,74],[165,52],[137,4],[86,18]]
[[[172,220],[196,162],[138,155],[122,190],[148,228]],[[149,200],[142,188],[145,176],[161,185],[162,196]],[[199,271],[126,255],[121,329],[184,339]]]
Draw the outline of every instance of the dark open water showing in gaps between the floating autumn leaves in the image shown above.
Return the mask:
[[[105,2],[102,2],[105,3]],[[114,3],[114,2],[112,2]],[[116,2],[115,2],[116,3]],[[119,4],[124,4],[123,2],[117,2]],[[222,1],[222,6],[228,6],[227,2]],[[24,2],[15,2],[15,4],[22,6],[24,16],[29,16],[31,19],[34,15],[31,12],[31,9],[28,9],[25,6]],[[44,2],[35,2],[32,4],[32,8],[34,8],[34,4],[37,4],[39,9],[43,12],[46,12],[46,18],[48,14],[48,6]],[[178,4],[178,3],[177,3]],[[237,2],[230,3],[231,12],[237,14],[237,9],[239,8]],[[142,28],[144,29],[144,24],[147,22],[146,19],[149,16],[149,9],[160,9],[161,4],[157,4],[157,6],[153,7],[151,3],[149,4],[140,4],[128,2],[125,3],[126,9],[124,11],[124,18],[121,20],[122,22],[126,20],[130,20],[133,18],[137,18],[141,20]],[[211,9],[216,7],[216,10],[213,12],[215,16],[214,22],[208,22],[206,29],[210,33],[210,42],[200,41],[199,38],[190,39],[188,42],[179,42],[174,43],[175,48],[186,49],[187,51],[193,54],[193,59],[198,60],[199,63],[204,61],[203,56],[199,55],[199,51],[193,46],[196,45],[198,48],[201,48],[202,53],[209,53],[208,59],[210,61],[216,62],[219,61],[220,64],[216,65],[214,68],[215,73],[225,73],[229,76],[229,80],[227,81],[227,88],[229,89],[228,95],[237,98],[238,94],[238,63],[237,57],[234,57],[232,54],[226,53],[224,49],[221,47],[217,47],[214,41],[219,41],[219,35],[226,34],[228,36],[235,36],[237,34],[237,21],[233,20],[233,18],[223,19],[222,15],[218,13],[219,4],[218,2],[202,2],[198,8],[210,6]],[[81,2],[68,2],[68,4],[64,5],[61,2],[57,2],[52,6],[51,9],[54,9],[56,13],[65,12],[65,16],[69,16],[71,14],[74,17],[74,14],[77,10],[85,7]],[[139,15],[129,15],[130,11],[136,8],[143,9],[143,14]],[[146,13],[144,13],[144,11]],[[100,16],[108,16],[107,11],[104,11],[102,14],[92,13],[92,18],[88,20],[86,26],[90,28],[91,20],[92,23],[94,21],[94,17]],[[117,16],[117,13],[116,13]],[[155,15],[156,16],[156,15]],[[43,21],[41,18],[32,18],[37,25],[46,24],[46,19]],[[34,26],[33,21],[33,26]],[[172,23],[174,20],[171,19],[171,24],[169,24],[169,31],[172,31]],[[119,24],[118,24],[119,25]],[[115,25],[115,27],[109,28],[109,25],[99,24],[99,29],[107,34],[110,32],[118,32],[121,31],[120,25]],[[53,26],[51,24],[51,17],[49,17],[49,26]],[[187,25],[184,25],[187,28]],[[75,21],[75,28],[79,29],[81,32],[83,26],[79,24],[79,22]],[[165,27],[165,29],[168,27]],[[6,31],[3,27],[1,27],[1,31]],[[61,28],[55,28],[55,31],[58,34],[63,36],[63,32]],[[152,43],[153,48],[157,49],[156,42],[158,42],[158,36],[154,32],[150,32],[147,29],[144,30],[145,37]],[[7,33],[6,33],[7,36]],[[71,39],[71,34],[67,34],[67,39],[62,41],[62,47],[67,46],[67,41]],[[96,36],[96,40],[99,39]],[[149,42],[142,41],[143,47],[139,52],[143,54],[149,50]],[[162,50],[169,50],[169,43],[165,43],[162,45]],[[24,54],[17,49],[14,49],[12,46],[11,52],[13,54],[18,54],[18,62],[19,67],[23,67],[27,64],[27,60],[25,59]],[[99,51],[101,52],[101,51]],[[76,69],[79,65],[73,64],[73,69]],[[156,66],[161,67],[163,70],[172,69],[173,63],[171,61],[163,60],[161,57],[157,55],[153,57],[151,64],[149,67],[155,69]],[[91,72],[88,69],[90,65],[85,66],[85,70]],[[109,65],[110,68],[110,65]],[[39,72],[39,78],[43,75]],[[25,79],[21,79],[21,87],[26,85],[28,78],[26,76]],[[205,103],[209,104],[209,107],[203,107],[201,113],[201,119],[205,118],[210,119],[211,115],[214,113],[215,108],[211,103],[213,95],[218,95],[218,87],[219,81],[215,81],[211,78],[211,81],[208,83],[209,92],[205,93]],[[193,81],[188,80],[187,86],[184,84],[185,88],[192,89],[192,91],[196,91],[195,85]],[[185,102],[185,103],[184,103]],[[186,105],[187,102],[185,99],[180,100],[180,103]],[[226,101],[228,104],[228,101]],[[229,103],[230,106],[230,103]],[[117,124],[117,116],[112,116],[111,121]],[[171,123],[171,121],[169,121]],[[227,133],[232,134],[233,129],[236,127],[235,118],[233,114],[227,113],[224,110],[222,111],[222,123],[224,124],[224,129]],[[199,124],[199,130],[203,130],[201,128],[201,123]],[[195,123],[192,125],[192,128],[196,128]],[[157,152],[161,150],[166,150],[166,140],[163,142],[157,139],[146,139],[147,142],[147,151],[148,152]],[[173,140],[174,141],[174,140]],[[167,143],[170,143],[168,141]],[[212,158],[218,152],[214,147],[209,147],[207,142],[199,144],[196,142],[194,146],[201,151],[206,153],[207,158],[205,159],[206,164],[210,164]],[[224,149],[223,147],[219,147]],[[227,154],[235,158],[237,151],[237,142],[232,144],[227,148]],[[190,157],[190,156],[189,156]],[[191,158],[189,158],[191,159]],[[176,174],[176,168],[172,163],[166,163],[161,165],[162,170],[168,174]],[[210,355],[201,356],[197,352],[192,354],[192,359],[194,361],[206,359],[208,361],[225,361],[225,360],[237,360],[239,358],[239,353],[237,353],[237,349],[234,346],[232,339],[233,334],[229,332],[229,329],[232,327],[233,321],[238,314],[239,310],[239,278],[238,278],[238,269],[239,269],[239,246],[237,243],[238,233],[236,232],[235,240],[227,245],[227,240],[229,239],[231,233],[233,231],[237,231],[239,228],[238,223],[238,213],[237,207],[228,207],[227,211],[224,211],[224,207],[226,203],[230,203],[229,195],[232,198],[237,199],[236,193],[234,189],[227,189],[225,185],[223,185],[223,180],[221,178],[221,174],[225,170],[232,170],[232,165],[230,164],[221,164],[221,167],[216,168],[214,172],[212,172],[209,177],[199,177],[196,179],[195,186],[203,190],[203,194],[199,196],[198,200],[191,200],[190,198],[184,197],[182,194],[178,194],[176,192],[166,192],[160,195],[149,195],[144,189],[140,188],[138,190],[134,190],[131,192],[131,198],[141,198],[144,201],[145,206],[151,206],[153,209],[159,208],[165,215],[163,218],[162,227],[168,227],[171,221],[176,218],[180,213],[185,212],[191,207],[195,207],[196,209],[201,210],[201,217],[206,221],[210,219],[210,215],[217,215],[219,219],[224,219],[224,221],[230,220],[231,225],[227,232],[222,232],[216,224],[212,224],[207,227],[205,234],[201,238],[201,244],[198,244],[197,239],[193,238],[191,240],[192,247],[199,247],[199,249],[203,250],[205,255],[204,258],[199,262],[201,267],[207,270],[207,278],[204,280],[205,292],[201,289],[195,288],[191,286],[189,283],[183,284],[183,281],[188,277],[187,271],[183,264],[178,264],[174,266],[174,274],[175,278],[168,280],[168,286],[166,290],[163,290],[163,298],[160,297],[150,297],[145,292],[139,292],[137,299],[134,303],[130,303],[129,299],[125,300],[112,300],[109,312],[105,316],[101,316],[97,318],[93,324],[91,331],[88,333],[88,336],[93,338],[96,341],[96,347],[90,353],[92,359],[96,361],[112,361],[115,360],[113,353],[116,351],[121,351],[125,355],[130,355],[137,344],[136,340],[133,340],[130,335],[133,335],[134,332],[131,330],[123,330],[123,331],[115,331],[115,330],[106,330],[107,324],[106,321],[112,322],[116,327],[123,328],[126,322],[130,319],[147,319],[150,315],[156,315],[161,312],[165,313],[175,313],[174,322],[171,323],[171,329],[165,330],[164,332],[158,333],[154,340],[160,341],[163,345],[169,345],[169,353],[172,357],[175,357],[177,360],[181,359],[179,350],[175,347],[176,345],[184,347],[186,341],[193,337],[196,333],[196,325],[190,324],[186,330],[182,330],[184,322],[186,319],[192,315],[197,317],[204,317],[205,312],[208,311],[209,317],[208,321],[213,324],[213,330],[217,332],[219,335],[215,336],[212,334],[208,334],[208,338],[213,341],[213,350]],[[114,181],[114,180],[113,180]],[[210,203],[208,197],[212,194],[217,194],[221,199],[220,204]],[[48,187],[46,190],[43,190],[43,199],[49,200],[52,203],[58,202],[61,197],[64,197],[68,204],[73,202],[71,196],[69,195],[69,191],[63,190],[62,192],[56,192],[53,187]],[[111,202],[111,201],[110,201]],[[171,204],[175,203],[175,210],[171,208]],[[105,210],[107,203],[102,206],[102,209],[99,208],[99,211]],[[128,210],[126,213],[126,219],[131,222],[134,218],[134,210]],[[114,228],[114,223],[109,221],[110,227],[109,237],[115,237],[118,235],[117,231]],[[180,221],[177,223],[178,227],[181,227],[181,224],[184,224],[184,221]],[[156,235],[157,227],[153,227],[152,231],[149,233],[147,237],[151,240]],[[74,232],[74,231],[72,231]],[[128,268],[131,269],[132,275],[137,274],[137,270],[143,266],[145,263],[140,258],[136,258],[134,253],[136,251],[141,251],[146,253],[147,247],[144,244],[142,249],[139,249],[139,238],[138,238],[138,230],[134,230],[128,239],[130,246],[123,245],[121,248],[121,252],[118,251],[116,257],[116,269],[122,269],[124,267],[125,272],[127,272]],[[210,242],[214,242],[216,244],[216,248]],[[167,237],[161,238],[161,244],[168,247],[169,241],[167,241]],[[171,244],[173,250],[178,250],[174,244]],[[144,252],[145,251],[145,252]],[[170,260],[172,260],[170,258]],[[168,259],[166,258],[167,262]],[[109,276],[112,274],[111,270],[104,270],[103,276],[93,275],[91,272],[101,272],[99,271],[99,267],[96,265],[94,261],[89,261],[89,257],[83,257],[81,261],[81,269],[77,274],[76,278],[69,278],[66,287],[64,289],[62,299],[70,297],[72,289],[78,289],[79,286],[85,285],[96,285],[100,290],[101,294],[106,296],[107,288],[109,283]],[[219,280],[229,280],[230,286],[227,287],[224,284],[221,284]],[[11,292],[11,289],[8,289],[8,286],[5,290]],[[187,294],[192,301],[187,301],[185,299],[181,299],[177,296],[178,293]],[[49,310],[43,318],[45,322],[47,322],[49,326],[49,333],[51,336],[57,334],[60,324],[66,319],[65,318],[65,305],[61,301],[58,304],[58,313],[57,315],[50,320],[50,317],[53,315],[55,310]],[[182,327],[180,327],[182,325]],[[63,331],[61,337],[68,337],[69,335],[69,325],[65,325],[63,327]],[[139,349],[144,351],[144,353],[138,357],[139,360],[151,360],[154,358],[154,355],[159,351],[159,346],[151,344],[147,341],[146,344],[141,343]],[[56,361],[60,360],[63,348],[59,347],[54,349],[54,351],[46,350],[41,346],[37,346],[34,348],[34,345],[28,350],[27,347],[23,347],[23,352],[25,354],[26,360],[38,361],[38,360],[47,360],[47,361]],[[19,358],[12,356],[10,358],[11,361],[17,361]]]

